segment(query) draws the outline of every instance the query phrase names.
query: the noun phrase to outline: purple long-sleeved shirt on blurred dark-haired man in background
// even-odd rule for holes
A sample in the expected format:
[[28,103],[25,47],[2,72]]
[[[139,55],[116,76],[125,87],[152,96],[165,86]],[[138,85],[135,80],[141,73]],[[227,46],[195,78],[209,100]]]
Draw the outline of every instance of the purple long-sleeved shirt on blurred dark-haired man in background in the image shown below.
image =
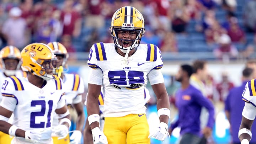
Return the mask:
[[207,127],[213,128],[214,125],[214,107],[213,104],[203,96],[202,92],[189,85],[187,89],[180,89],[176,92],[175,105],[178,108],[178,120],[171,124],[171,128],[179,126],[180,134],[191,133],[202,135],[200,129],[201,108],[205,107],[209,112]]

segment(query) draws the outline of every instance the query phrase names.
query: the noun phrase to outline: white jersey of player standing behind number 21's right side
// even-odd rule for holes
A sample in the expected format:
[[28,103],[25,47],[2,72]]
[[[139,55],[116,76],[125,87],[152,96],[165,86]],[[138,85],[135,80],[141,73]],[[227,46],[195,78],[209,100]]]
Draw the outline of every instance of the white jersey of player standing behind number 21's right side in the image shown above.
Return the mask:
[[[82,101],[82,95],[84,93],[84,82],[78,74],[64,74],[63,78],[63,90],[65,95],[63,96],[66,101],[66,105],[76,104]],[[56,113],[53,117],[53,127],[59,125],[59,118]],[[53,136],[55,136],[53,134]]]

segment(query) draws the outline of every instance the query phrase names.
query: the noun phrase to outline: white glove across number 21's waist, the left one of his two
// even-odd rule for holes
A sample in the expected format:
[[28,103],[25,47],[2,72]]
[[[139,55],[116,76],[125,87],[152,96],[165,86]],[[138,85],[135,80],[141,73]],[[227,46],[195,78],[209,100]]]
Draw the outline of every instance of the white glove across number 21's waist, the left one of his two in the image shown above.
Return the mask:
[[32,143],[42,142],[51,138],[51,129],[32,129],[26,130],[25,139]]

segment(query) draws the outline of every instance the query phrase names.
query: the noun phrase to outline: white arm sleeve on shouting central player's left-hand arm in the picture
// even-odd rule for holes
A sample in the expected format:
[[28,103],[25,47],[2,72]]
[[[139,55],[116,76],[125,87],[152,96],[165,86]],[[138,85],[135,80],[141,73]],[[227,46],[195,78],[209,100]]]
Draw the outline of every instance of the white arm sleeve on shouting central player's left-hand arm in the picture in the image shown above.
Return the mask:
[[89,84],[102,85],[103,73],[101,69],[91,69],[88,77]]

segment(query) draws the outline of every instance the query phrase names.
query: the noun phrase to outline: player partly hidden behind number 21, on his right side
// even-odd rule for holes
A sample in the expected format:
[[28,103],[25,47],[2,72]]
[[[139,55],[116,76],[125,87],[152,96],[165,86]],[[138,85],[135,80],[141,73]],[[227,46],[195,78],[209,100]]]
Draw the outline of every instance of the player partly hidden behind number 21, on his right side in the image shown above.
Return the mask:
[[[52,48],[57,57],[57,68],[67,68],[67,60],[69,55],[63,44],[59,42],[50,42],[47,45]],[[64,83],[64,98],[66,105],[69,106],[70,114],[72,113],[72,124],[76,125],[75,131],[70,136],[70,144],[79,144],[81,142],[82,129],[85,122],[84,105],[82,103],[84,82],[78,74],[68,74],[62,72],[60,78]],[[53,119],[53,127],[55,126],[58,126],[58,119]],[[69,144],[69,138],[58,140],[56,137],[53,137],[53,142],[54,144]]]

